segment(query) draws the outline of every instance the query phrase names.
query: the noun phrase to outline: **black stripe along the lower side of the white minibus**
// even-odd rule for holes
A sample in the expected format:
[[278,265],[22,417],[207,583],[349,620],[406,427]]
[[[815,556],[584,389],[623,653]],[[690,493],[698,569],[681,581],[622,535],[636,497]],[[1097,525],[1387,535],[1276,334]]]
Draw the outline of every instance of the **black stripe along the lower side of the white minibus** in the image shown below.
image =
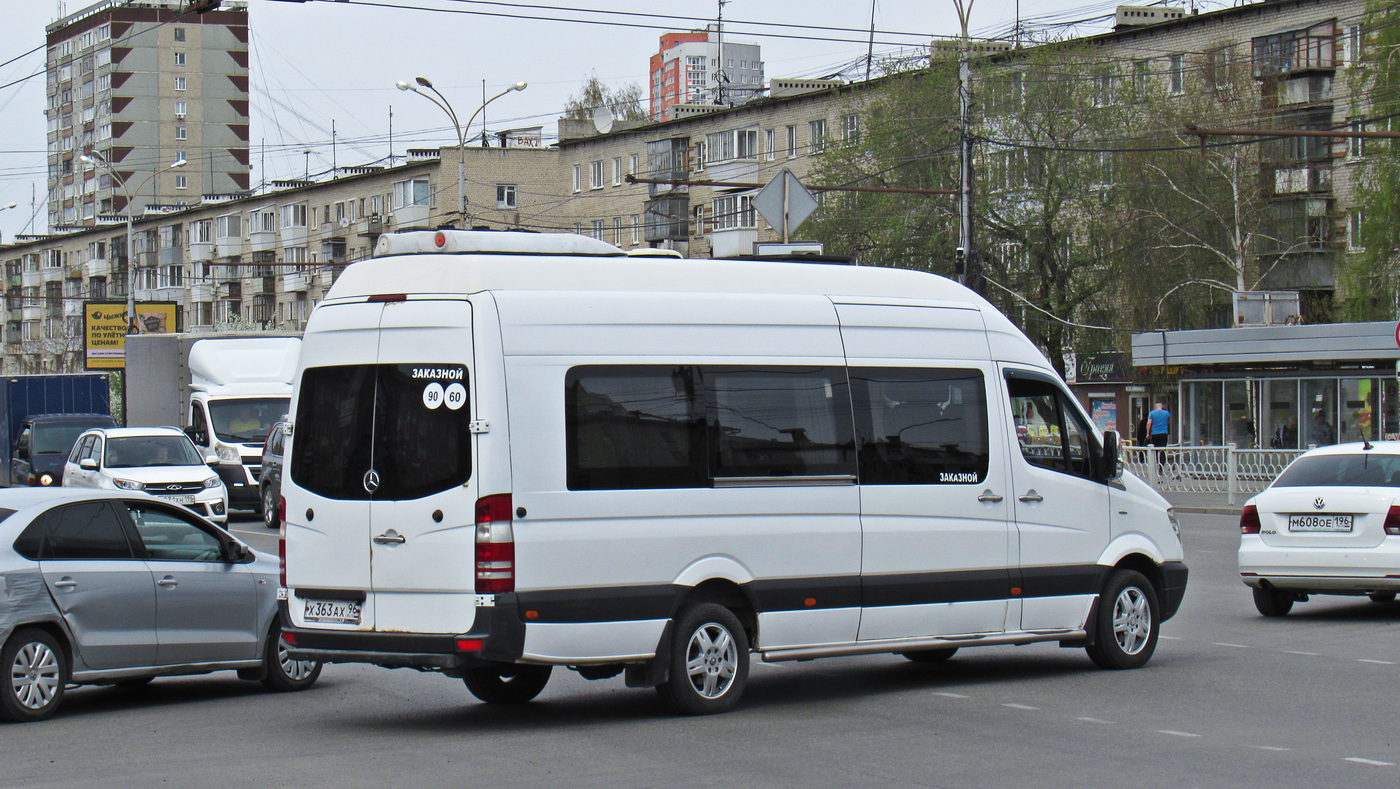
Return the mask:
[[[1096,564],[918,572],[861,578],[785,578],[743,586],[757,613],[822,609],[876,609],[972,600],[1015,600],[1093,595],[1112,568]],[[1021,592],[1016,593],[1015,589]],[[528,623],[613,623],[671,618],[687,586],[596,586],[519,592],[521,616]]]

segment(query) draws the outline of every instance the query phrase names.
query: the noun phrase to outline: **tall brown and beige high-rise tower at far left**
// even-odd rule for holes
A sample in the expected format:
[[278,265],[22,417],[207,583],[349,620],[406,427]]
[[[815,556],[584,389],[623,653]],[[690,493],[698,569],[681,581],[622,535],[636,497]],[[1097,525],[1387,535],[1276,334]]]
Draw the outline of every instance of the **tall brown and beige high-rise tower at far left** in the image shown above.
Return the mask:
[[50,229],[248,190],[245,3],[106,0],[46,31]]

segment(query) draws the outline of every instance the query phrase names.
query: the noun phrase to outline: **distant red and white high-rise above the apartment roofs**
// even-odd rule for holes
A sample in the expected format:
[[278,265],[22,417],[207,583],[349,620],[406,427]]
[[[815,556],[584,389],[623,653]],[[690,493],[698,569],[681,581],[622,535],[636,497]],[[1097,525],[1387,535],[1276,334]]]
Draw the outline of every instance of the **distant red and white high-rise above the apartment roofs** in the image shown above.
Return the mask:
[[734,106],[763,92],[759,45],[724,41],[717,25],[662,35],[650,73],[657,120],[669,119],[678,104]]

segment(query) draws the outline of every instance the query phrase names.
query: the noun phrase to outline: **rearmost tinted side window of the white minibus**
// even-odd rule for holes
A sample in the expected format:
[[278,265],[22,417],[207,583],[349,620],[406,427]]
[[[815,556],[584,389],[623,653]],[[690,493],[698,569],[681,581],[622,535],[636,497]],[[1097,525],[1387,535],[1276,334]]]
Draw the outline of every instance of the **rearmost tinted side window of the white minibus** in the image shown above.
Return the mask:
[[708,485],[694,369],[577,367],[564,385],[568,490]]

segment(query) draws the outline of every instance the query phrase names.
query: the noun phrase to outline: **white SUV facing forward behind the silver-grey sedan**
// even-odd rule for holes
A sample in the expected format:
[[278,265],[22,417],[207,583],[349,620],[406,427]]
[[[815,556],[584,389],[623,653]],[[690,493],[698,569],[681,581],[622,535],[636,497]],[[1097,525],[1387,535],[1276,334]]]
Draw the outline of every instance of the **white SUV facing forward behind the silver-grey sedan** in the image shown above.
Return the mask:
[[195,442],[175,428],[94,428],[73,443],[63,485],[146,491],[228,522],[228,490]]

